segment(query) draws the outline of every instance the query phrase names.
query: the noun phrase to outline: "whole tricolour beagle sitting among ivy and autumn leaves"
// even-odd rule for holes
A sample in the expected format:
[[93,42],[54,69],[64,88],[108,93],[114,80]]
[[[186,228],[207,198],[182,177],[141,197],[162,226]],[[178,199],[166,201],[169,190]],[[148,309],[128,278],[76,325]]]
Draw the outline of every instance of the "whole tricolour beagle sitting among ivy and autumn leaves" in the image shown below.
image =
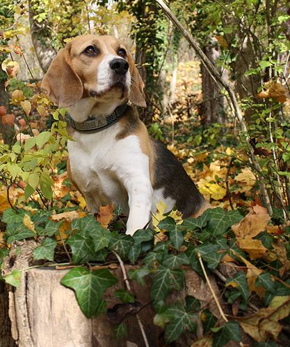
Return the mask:
[[146,107],[144,83],[120,40],[75,37],[51,62],[41,87],[59,108],[68,108],[74,141],[67,144],[67,172],[88,211],[122,204],[127,234],[134,235],[160,200],[184,218],[211,208],[175,155],[150,137],[136,108],[127,105]]

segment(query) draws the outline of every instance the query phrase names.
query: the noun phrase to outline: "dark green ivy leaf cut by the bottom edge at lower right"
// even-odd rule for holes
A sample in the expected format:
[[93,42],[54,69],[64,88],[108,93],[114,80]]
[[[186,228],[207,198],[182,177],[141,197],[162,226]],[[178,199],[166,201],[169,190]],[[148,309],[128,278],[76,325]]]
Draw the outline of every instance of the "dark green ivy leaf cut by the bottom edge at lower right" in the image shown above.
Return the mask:
[[241,341],[239,323],[235,321],[226,322],[221,328],[212,328],[214,331],[213,347],[223,347],[228,341]]

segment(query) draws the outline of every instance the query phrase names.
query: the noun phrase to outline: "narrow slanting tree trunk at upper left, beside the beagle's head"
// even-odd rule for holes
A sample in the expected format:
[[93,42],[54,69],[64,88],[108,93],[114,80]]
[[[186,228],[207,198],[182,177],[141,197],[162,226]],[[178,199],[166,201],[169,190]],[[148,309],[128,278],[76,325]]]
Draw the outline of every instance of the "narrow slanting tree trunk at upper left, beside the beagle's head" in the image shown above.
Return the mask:
[[[38,23],[33,17],[36,15],[33,9],[33,4],[36,1],[29,0],[29,24],[31,32],[31,40],[34,46],[35,54],[40,63],[40,67],[44,72],[46,72],[51,64],[51,61],[56,56],[56,51],[51,46],[49,38],[47,38],[47,33],[45,33],[45,26]],[[41,37],[41,40],[40,40]],[[43,40],[47,42],[42,43]]]

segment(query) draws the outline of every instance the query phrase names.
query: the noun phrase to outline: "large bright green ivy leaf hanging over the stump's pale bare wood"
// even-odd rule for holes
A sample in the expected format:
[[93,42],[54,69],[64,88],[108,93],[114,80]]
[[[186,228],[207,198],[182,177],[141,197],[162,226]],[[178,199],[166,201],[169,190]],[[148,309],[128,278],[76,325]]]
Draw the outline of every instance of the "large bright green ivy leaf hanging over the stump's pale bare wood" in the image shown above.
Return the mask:
[[89,271],[75,267],[61,280],[65,287],[74,289],[83,314],[90,318],[102,303],[102,296],[108,287],[115,285],[118,279],[108,269]]

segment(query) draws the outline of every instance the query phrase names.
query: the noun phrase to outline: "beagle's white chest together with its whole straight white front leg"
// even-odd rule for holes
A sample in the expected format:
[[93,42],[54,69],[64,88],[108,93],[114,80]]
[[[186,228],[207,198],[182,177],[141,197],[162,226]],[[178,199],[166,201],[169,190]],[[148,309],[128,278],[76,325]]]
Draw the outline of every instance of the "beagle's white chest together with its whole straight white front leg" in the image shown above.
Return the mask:
[[77,177],[88,210],[98,211],[100,201],[95,196],[103,192],[105,198],[115,202],[115,207],[122,203],[124,213],[130,210],[127,234],[133,235],[150,221],[153,189],[149,158],[142,152],[136,135],[116,140],[119,131],[117,123],[97,135],[75,132],[76,141],[69,141],[67,149],[72,176]]

